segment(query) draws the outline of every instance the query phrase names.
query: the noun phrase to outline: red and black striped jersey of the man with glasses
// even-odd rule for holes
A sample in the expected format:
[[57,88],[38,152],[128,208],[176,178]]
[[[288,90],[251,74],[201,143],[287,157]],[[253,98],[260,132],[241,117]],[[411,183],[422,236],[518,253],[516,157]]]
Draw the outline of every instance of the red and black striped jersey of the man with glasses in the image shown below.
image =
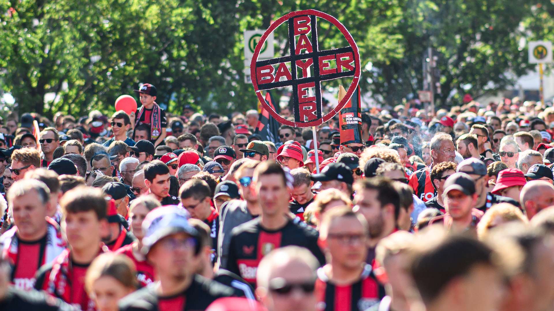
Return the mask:
[[333,284],[323,268],[317,269],[315,283],[318,311],[363,311],[379,303],[385,296],[371,265],[366,265],[360,279],[353,284]]

